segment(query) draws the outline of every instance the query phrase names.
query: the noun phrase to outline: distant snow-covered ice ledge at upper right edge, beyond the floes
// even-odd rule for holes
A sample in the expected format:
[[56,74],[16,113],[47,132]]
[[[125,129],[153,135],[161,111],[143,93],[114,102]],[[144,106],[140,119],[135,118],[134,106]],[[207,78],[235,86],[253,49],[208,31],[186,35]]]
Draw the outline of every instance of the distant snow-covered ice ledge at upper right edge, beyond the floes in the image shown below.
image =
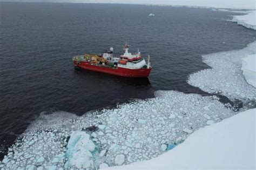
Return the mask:
[[251,11],[246,15],[233,16],[232,22],[237,22],[238,25],[256,30],[256,11]]

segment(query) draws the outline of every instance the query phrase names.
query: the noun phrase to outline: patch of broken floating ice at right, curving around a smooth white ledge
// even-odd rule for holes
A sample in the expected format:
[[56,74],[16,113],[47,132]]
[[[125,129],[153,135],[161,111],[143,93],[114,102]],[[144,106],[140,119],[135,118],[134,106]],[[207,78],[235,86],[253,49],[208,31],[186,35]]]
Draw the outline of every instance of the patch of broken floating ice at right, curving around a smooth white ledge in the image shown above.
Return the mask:
[[256,42],[241,50],[225,51],[203,55],[203,62],[212,69],[193,73],[188,84],[208,93],[221,93],[230,99],[256,99],[256,88],[249,85],[242,75],[241,59],[256,53]]

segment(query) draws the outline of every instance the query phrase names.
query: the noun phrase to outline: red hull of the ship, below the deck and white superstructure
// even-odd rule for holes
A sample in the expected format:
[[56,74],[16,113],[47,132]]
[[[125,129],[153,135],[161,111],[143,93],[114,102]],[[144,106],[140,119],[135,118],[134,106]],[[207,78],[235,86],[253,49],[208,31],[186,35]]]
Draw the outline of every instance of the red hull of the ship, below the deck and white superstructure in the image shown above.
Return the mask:
[[81,69],[113,74],[123,77],[148,77],[152,69],[125,69],[122,67],[117,67],[114,69],[106,66],[92,65],[90,62],[81,61],[77,63],[76,60],[73,60],[73,64]]

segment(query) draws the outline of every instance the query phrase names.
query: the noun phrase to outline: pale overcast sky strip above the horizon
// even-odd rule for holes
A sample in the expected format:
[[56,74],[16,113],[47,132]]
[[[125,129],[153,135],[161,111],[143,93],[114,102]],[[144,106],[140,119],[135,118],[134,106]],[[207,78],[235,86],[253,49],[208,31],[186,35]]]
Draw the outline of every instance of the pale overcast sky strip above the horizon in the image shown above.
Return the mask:
[[215,8],[255,9],[256,0],[0,0],[5,2],[69,2],[69,3],[129,3],[210,6]]

